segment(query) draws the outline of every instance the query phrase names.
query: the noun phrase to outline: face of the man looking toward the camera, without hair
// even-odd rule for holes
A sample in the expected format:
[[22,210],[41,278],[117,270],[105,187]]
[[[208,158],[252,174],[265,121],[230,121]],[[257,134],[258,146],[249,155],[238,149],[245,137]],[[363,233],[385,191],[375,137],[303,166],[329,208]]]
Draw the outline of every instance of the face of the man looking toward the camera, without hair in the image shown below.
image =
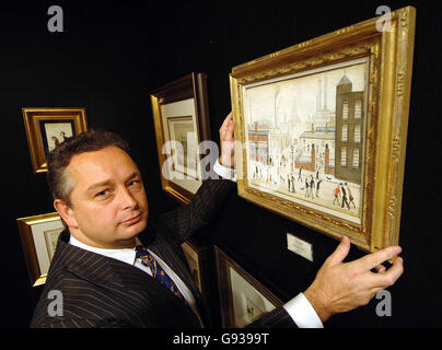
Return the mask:
[[131,158],[108,147],[74,155],[67,171],[74,183],[71,233],[102,248],[131,246],[146,229],[149,212],[141,175]]

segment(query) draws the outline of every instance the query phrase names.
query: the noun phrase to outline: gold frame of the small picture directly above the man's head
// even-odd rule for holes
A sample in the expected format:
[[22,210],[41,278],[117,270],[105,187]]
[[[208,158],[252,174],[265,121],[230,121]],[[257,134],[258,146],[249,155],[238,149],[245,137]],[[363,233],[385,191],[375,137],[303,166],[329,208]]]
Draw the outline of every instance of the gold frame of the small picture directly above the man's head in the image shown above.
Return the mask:
[[74,132],[88,130],[85,108],[22,108],[34,173],[47,172],[40,121],[73,121]]

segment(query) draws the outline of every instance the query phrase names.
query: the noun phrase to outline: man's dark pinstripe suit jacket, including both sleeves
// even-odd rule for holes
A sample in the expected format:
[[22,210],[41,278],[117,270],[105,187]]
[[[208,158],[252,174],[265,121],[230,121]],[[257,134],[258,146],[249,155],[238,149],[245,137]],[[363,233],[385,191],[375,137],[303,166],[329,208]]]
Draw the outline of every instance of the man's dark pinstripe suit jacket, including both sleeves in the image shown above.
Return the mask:
[[[181,244],[206,224],[224,197],[235,188],[225,179],[205,180],[191,202],[155,220],[139,235],[144,246],[160,256],[195,295],[206,326],[211,325],[189,272]],[[69,244],[62,232],[31,327],[164,327],[191,328],[200,324],[189,306],[168,289],[135,266]],[[51,290],[62,293],[62,315],[50,316]],[[280,307],[253,326],[291,326]]]

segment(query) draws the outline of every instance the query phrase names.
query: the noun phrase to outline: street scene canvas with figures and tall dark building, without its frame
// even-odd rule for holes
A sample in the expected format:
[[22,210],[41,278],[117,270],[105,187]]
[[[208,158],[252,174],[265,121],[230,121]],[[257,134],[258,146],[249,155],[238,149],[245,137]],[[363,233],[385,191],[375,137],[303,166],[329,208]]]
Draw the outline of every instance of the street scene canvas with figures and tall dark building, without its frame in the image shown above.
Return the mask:
[[368,59],[243,88],[248,186],[360,223]]

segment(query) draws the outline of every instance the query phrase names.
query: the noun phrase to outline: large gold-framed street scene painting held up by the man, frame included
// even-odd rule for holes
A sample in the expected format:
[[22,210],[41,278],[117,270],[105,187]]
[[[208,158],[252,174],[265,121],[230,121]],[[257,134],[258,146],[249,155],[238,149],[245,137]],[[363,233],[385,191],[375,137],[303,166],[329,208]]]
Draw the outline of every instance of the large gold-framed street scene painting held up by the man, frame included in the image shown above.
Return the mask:
[[234,67],[239,195],[365,252],[397,244],[416,11]]

